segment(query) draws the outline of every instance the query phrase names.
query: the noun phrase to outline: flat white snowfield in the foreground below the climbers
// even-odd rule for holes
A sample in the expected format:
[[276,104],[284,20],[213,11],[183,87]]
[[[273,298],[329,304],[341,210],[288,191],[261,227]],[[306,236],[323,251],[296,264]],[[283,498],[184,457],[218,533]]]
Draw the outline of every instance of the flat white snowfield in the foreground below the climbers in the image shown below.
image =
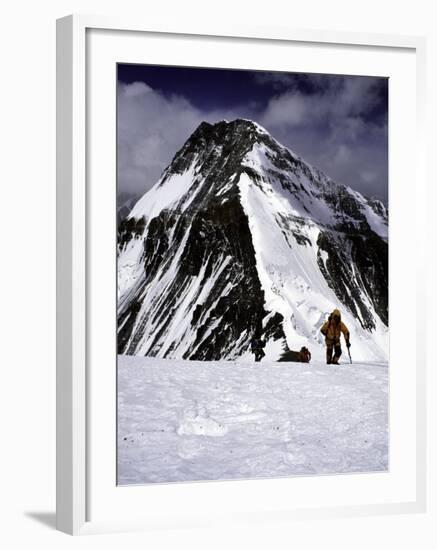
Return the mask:
[[119,356],[121,485],[387,467],[387,363]]

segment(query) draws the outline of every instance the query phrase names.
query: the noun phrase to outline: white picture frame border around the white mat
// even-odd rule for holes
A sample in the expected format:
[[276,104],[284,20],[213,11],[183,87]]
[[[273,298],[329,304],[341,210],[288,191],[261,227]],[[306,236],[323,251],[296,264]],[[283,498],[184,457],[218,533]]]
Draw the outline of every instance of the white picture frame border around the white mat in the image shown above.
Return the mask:
[[[235,498],[239,491],[241,499],[235,498],[235,508],[232,514],[237,521],[256,521],[260,519],[293,519],[338,517],[364,514],[392,514],[400,512],[421,512],[426,509],[426,357],[425,345],[415,346],[415,376],[414,384],[408,390],[411,406],[415,407],[415,421],[412,423],[410,436],[415,445],[412,453],[413,462],[409,471],[414,481],[405,494],[408,498],[397,497],[393,492],[387,493],[384,501],[373,502],[372,497],[361,502],[357,497],[353,504],[321,501],[320,506],[308,506],[289,503],[284,499],[278,506],[265,505],[249,509],[251,500],[263,481],[224,482],[222,484],[202,483],[187,484],[188,489],[172,489],[168,485],[153,488],[156,510],[147,510],[135,517],[118,517],[117,513],[109,511],[107,515],[99,515],[94,519],[90,515],[90,487],[93,483],[93,458],[90,449],[96,433],[90,430],[90,411],[95,399],[95,384],[91,389],[93,375],[90,367],[90,351],[92,341],[89,333],[90,303],[90,256],[89,229],[92,225],[90,196],[90,149],[88,147],[88,118],[92,101],[88,97],[88,80],[93,64],[88,60],[90,42],[87,36],[91,31],[109,33],[135,33],[135,37],[150,35],[167,40],[170,37],[202,37],[207,40],[220,38],[231,43],[238,41],[246,46],[258,44],[317,44],[318,47],[336,47],[353,49],[363,48],[378,51],[403,52],[414,57],[416,71],[414,87],[416,92],[414,130],[415,130],[415,167],[414,194],[425,195],[425,162],[424,162],[424,79],[425,79],[425,40],[421,37],[337,33],[327,31],[295,30],[287,28],[173,28],[162,25],[151,25],[147,21],[122,18],[106,18],[96,16],[72,15],[57,21],[57,528],[69,534],[86,534],[103,531],[119,531],[126,529],[147,529],[158,526],[192,526],[208,525],[216,522],[232,521],[226,513],[226,501]],[[111,40],[111,37],[109,37]],[[94,46],[93,46],[94,47]],[[115,48],[116,49],[116,48]],[[375,50],[375,51],[376,51]],[[170,51],[167,52],[171,54]],[[171,56],[171,55],[170,55]],[[177,64],[177,63],[176,63]],[[115,78],[115,71],[114,71]],[[402,139],[401,137],[399,139]],[[396,168],[396,166],[395,166]],[[397,192],[396,192],[397,193]],[[402,193],[402,191],[399,191]],[[393,196],[393,195],[392,195]],[[396,204],[397,201],[394,201]],[[400,208],[407,203],[399,201]],[[395,213],[396,214],[396,213]],[[416,219],[415,234],[425,222]],[[414,272],[417,285],[408,289],[411,294],[410,307],[417,315],[425,312],[425,251],[420,242],[414,249]],[[417,335],[419,327],[416,326]],[[421,336],[423,340],[423,335]],[[391,342],[391,345],[396,342]],[[115,353],[115,352],[114,352]],[[407,380],[407,379],[406,379]],[[408,385],[408,384],[407,384]],[[393,388],[392,388],[393,389]],[[115,393],[108,391],[106,400],[115,403]],[[396,388],[392,395],[397,396]],[[398,401],[397,399],[395,401]],[[399,403],[396,405],[399,406]],[[402,403],[400,404],[402,407]],[[96,422],[93,416],[93,422]],[[114,435],[115,440],[115,435]],[[413,472],[414,466],[414,472]],[[115,469],[115,465],[114,465]],[[390,474],[389,474],[390,475]],[[352,479],[352,478],[350,478]],[[413,478],[411,478],[413,479]],[[288,480],[290,481],[290,480]],[[372,480],[368,478],[369,485]],[[309,481],[292,480],[294,484],[308,484]],[[264,483],[263,490],[275,495],[279,483],[275,480],[273,492],[269,492]],[[232,485],[234,484],[234,485]],[[255,484],[255,485],[254,485]],[[332,490],[335,483],[326,477],[313,479],[314,484],[326,485],[326,490]],[[220,486],[220,487],[219,487]],[[213,487],[213,488],[212,488]],[[232,487],[232,491],[230,489]],[[266,489],[267,487],[267,489]],[[272,485],[273,487],[273,485]],[[309,485],[308,485],[309,487]],[[376,485],[375,485],[376,487]],[[94,489],[93,489],[94,490]],[[124,491],[123,502],[129,500],[127,489]],[[141,488],[137,489],[137,496]],[[187,492],[190,491],[190,493]],[[312,490],[312,489],[311,489]],[[335,487],[334,487],[335,490]],[[176,495],[175,491],[179,491]],[[212,492],[213,491],[213,492]],[[387,489],[388,491],[388,489]],[[221,497],[216,498],[220,493]],[[102,493],[103,494],[103,493]],[[150,493],[149,493],[150,494]],[[210,512],[202,516],[196,505],[187,501],[187,495],[192,494],[193,500],[213,497],[218,504],[211,506]],[[161,495],[161,496],[160,496]],[[413,495],[413,496],[410,496]],[[158,501],[170,497],[175,502],[173,515],[164,514],[164,508]],[[103,497],[102,497],[103,498]],[[147,494],[141,502],[147,502]],[[185,508],[178,517],[178,499],[184,499]],[[145,499],[145,500],[144,500]],[[352,502],[352,500],[350,500]],[[179,504],[180,506],[180,504]],[[205,506],[203,506],[205,508]],[[113,508],[116,510],[116,508]],[[106,513],[105,512],[105,513]],[[114,515],[115,514],[115,515]],[[152,517],[153,516],[153,517]],[[235,521],[235,520],[234,520]]]

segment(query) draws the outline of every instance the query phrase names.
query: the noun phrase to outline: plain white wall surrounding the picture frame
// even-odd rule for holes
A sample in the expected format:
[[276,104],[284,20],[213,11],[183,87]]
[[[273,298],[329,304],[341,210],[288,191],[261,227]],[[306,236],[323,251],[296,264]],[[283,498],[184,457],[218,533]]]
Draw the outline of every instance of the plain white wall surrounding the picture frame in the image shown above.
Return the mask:
[[[3,548],[435,548],[437,408],[431,347],[436,300],[429,292],[430,507],[416,516],[295,522],[227,531],[173,531],[71,538],[53,530],[55,507],[55,19],[71,12],[142,13],[180,23],[235,23],[428,34],[430,194],[435,218],[437,18],[416,0],[24,0],[3,4],[0,33],[0,545]],[[433,177],[434,176],[434,177]],[[431,181],[433,179],[433,181]],[[432,183],[432,185],[431,185]],[[431,223],[431,222],[430,222]],[[435,223],[433,224],[435,233]],[[431,230],[431,225],[429,226]],[[430,235],[430,281],[435,241]],[[433,247],[433,248],[431,248]],[[405,281],[408,284],[408,281]],[[408,356],[408,344],[405,355]]]

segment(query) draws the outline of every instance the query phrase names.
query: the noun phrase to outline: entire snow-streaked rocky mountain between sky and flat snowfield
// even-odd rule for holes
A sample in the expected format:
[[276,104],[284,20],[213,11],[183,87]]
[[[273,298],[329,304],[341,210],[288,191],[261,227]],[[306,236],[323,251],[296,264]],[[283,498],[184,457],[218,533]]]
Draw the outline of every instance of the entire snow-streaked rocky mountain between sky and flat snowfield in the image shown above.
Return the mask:
[[258,332],[322,356],[339,307],[354,357],[386,359],[387,223],[255,122],[203,122],[119,226],[119,352],[233,359]]

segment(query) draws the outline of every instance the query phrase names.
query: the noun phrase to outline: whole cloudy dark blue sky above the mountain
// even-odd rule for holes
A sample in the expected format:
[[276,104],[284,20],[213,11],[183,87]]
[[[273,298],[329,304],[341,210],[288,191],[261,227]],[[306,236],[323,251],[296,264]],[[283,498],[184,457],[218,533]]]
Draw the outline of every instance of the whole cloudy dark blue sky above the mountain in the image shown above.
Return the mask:
[[142,194],[206,120],[250,118],[334,180],[387,202],[388,80],[119,64],[118,188]]

